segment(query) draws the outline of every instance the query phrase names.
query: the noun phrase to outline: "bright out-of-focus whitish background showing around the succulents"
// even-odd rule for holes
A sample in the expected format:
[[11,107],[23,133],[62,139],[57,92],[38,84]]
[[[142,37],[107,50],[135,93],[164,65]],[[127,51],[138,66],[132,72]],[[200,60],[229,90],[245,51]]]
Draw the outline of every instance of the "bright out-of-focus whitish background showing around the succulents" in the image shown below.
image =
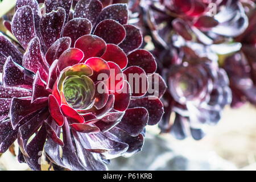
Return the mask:
[[[15,0],[0,2],[0,17],[14,5]],[[0,31],[4,31],[1,18]],[[256,170],[256,108],[249,104],[226,107],[220,123],[200,141],[158,134],[157,126],[149,126],[143,150],[128,159],[112,160],[110,170]],[[17,151],[16,145],[0,154],[0,170],[29,170],[18,163]]]

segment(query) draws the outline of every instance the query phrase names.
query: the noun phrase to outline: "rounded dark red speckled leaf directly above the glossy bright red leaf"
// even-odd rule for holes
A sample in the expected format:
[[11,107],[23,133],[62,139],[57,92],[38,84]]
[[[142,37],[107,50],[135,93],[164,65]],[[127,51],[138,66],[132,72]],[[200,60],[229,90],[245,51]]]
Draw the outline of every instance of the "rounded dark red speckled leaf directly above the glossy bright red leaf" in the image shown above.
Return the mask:
[[104,39],[106,43],[119,44],[125,39],[126,31],[122,24],[117,21],[105,19],[97,24],[93,34]]

